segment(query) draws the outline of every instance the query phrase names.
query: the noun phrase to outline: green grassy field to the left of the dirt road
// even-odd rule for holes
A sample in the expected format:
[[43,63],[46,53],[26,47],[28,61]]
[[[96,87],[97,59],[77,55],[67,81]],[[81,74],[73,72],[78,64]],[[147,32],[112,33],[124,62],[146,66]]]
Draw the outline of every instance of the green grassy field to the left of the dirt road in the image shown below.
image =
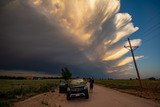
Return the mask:
[[44,80],[0,80],[0,107],[9,107],[13,102],[48,91],[54,92],[57,79]]

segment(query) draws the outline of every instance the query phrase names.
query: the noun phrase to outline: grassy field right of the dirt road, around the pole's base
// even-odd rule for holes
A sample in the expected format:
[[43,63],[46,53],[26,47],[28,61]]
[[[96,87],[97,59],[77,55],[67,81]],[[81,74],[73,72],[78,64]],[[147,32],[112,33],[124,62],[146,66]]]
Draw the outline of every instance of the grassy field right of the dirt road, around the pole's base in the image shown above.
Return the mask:
[[140,88],[138,80],[96,80],[95,82],[105,87],[160,103],[160,80],[142,80],[143,89]]

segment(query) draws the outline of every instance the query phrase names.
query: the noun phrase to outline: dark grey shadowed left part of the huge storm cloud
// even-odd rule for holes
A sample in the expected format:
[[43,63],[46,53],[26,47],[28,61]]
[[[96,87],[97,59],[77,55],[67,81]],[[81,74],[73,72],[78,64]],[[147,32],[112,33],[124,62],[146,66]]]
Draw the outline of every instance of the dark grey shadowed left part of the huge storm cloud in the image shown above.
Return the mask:
[[[67,38],[54,22],[37,13],[25,1],[1,2],[0,69],[58,71],[64,66],[77,70],[99,70]],[[89,74],[89,72],[88,72]],[[101,75],[101,74],[100,74]]]

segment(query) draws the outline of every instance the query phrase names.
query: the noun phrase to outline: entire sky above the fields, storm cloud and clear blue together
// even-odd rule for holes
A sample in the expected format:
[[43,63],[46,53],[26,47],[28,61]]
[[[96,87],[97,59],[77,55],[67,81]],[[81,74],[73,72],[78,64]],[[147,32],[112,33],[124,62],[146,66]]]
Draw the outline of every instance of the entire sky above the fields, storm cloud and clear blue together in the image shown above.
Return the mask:
[[[1,0],[0,74],[160,77],[159,0]],[[5,72],[5,73],[4,73]]]

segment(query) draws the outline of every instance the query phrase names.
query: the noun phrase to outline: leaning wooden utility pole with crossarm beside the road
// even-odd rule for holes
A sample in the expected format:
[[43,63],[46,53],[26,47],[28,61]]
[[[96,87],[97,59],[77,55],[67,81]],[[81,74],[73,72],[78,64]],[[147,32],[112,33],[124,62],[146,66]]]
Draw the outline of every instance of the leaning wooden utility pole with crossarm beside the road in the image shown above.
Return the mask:
[[134,65],[135,65],[135,69],[136,69],[136,72],[137,72],[137,77],[138,77],[138,80],[139,80],[139,84],[140,84],[140,87],[142,89],[142,82],[141,82],[141,77],[139,75],[139,70],[138,70],[138,67],[137,67],[137,63],[136,63],[136,60],[135,60],[135,57],[134,57],[134,53],[133,53],[133,46],[130,42],[130,39],[128,38],[128,43],[129,43],[129,46],[124,46],[125,48],[129,47],[130,48],[130,51],[132,53],[132,57],[133,57],[133,62],[134,62]]

